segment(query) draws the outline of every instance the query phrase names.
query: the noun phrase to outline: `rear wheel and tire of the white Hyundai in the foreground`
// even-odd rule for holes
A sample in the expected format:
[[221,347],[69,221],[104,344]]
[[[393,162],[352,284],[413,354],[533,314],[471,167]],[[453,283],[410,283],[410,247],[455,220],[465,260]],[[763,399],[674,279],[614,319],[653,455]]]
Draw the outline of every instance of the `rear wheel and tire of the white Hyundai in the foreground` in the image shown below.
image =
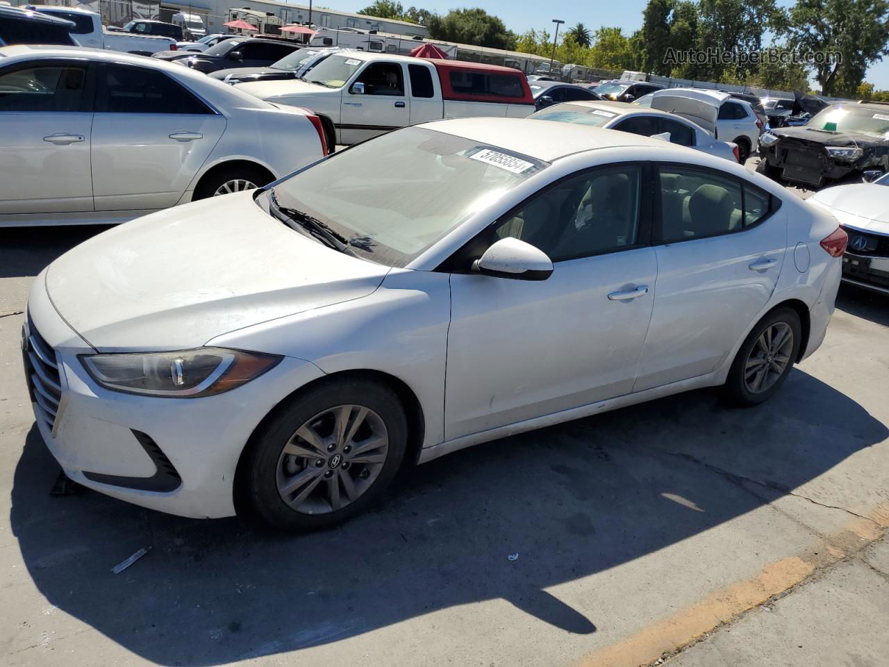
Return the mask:
[[[781,342],[781,336],[789,331],[789,342]],[[794,309],[774,309],[753,327],[741,344],[725,380],[725,399],[734,406],[758,406],[781,389],[790,369],[799,356],[803,326]],[[769,343],[772,343],[771,347]],[[750,366],[761,359],[756,366]],[[781,364],[781,360],[786,361]],[[778,373],[777,367],[781,366]],[[763,370],[765,368],[765,371]]]

